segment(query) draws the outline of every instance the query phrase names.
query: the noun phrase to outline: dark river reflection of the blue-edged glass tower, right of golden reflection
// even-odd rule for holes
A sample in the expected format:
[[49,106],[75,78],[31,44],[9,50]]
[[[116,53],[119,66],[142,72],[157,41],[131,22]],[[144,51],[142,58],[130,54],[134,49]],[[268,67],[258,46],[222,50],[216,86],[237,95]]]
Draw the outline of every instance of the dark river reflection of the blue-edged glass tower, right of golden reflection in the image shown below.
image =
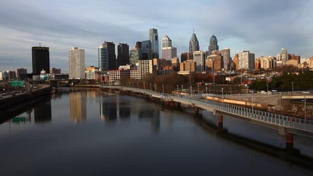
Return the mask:
[[114,100],[104,101],[100,98],[100,118],[107,122],[113,122],[117,119],[117,104]]

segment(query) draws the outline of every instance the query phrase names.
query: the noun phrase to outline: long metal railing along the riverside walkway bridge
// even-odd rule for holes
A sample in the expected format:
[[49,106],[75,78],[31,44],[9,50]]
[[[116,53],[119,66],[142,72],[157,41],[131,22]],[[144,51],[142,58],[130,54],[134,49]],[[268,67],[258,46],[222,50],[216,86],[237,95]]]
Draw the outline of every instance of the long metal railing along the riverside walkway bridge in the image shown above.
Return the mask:
[[227,103],[221,103],[216,101],[210,101],[200,98],[189,98],[177,95],[162,96],[164,98],[176,99],[178,101],[186,101],[194,103],[196,106],[200,106],[203,109],[218,110],[221,112],[250,118],[258,121],[263,121],[268,124],[275,124],[287,128],[300,129],[303,131],[313,132],[313,121],[300,118],[294,118],[285,115],[273,114],[265,111],[252,110],[250,108],[239,107]]

